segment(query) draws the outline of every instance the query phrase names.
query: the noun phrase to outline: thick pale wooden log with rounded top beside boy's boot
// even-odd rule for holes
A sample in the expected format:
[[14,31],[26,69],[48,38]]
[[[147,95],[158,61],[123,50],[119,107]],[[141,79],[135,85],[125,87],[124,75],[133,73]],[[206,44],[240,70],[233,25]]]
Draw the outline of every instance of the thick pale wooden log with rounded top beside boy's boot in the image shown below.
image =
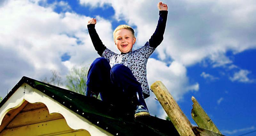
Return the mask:
[[192,131],[191,123],[164,84],[161,81],[156,81],[151,85],[150,88],[153,90],[156,98],[163,106],[165,112],[179,134],[181,136],[195,136],[194,132]]

